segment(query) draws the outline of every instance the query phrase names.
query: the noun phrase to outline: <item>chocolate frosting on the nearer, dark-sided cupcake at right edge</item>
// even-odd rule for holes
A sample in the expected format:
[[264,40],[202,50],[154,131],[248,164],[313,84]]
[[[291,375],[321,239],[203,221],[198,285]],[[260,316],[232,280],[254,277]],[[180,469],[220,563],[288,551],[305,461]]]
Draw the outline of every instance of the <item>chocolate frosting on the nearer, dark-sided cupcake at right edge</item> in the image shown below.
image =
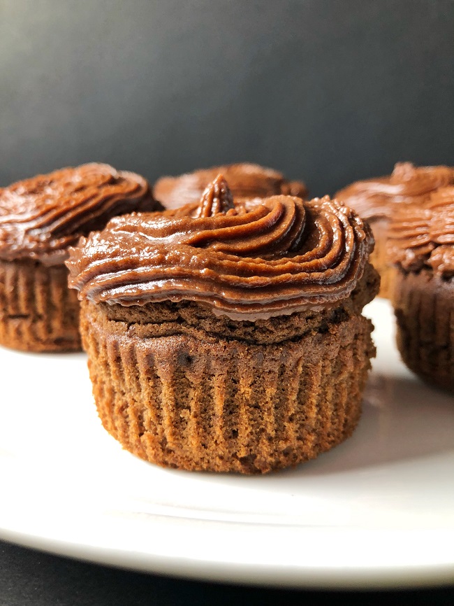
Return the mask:
[[436,275],[453,277],[454,186],[435,190],[420,206],[400,206],[388,238],[390,258],[404,270],[432,267]]

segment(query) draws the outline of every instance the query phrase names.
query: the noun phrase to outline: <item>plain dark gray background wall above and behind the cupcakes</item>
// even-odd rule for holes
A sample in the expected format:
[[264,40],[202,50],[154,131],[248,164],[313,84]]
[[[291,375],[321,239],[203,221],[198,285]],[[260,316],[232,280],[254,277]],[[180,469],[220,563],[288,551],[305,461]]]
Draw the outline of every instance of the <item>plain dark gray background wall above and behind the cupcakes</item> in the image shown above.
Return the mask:
[[249,160],[314,195],[454,164],[453,0],[0,0],[0,185]]

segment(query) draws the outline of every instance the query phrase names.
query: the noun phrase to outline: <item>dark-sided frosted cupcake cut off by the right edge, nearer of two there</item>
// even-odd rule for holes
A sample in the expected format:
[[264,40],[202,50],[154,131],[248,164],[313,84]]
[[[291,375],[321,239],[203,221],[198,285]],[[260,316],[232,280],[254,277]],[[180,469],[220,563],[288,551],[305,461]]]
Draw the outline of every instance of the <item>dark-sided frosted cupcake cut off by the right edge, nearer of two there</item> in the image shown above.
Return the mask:
[[454,391],[454,186],[398,209],[388,238],[402,360],[425,381]]

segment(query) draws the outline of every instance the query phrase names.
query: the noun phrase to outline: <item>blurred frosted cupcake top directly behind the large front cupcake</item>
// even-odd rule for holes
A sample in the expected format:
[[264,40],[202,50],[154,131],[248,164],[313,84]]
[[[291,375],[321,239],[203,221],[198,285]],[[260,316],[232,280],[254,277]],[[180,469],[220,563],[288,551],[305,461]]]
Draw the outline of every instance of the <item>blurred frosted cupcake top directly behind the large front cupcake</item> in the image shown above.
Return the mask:
[[199,202],[208,183],[223,174],[233,197],[265,198],[277,194],[307,197],[302,181],[287,181],[284,175],[258,164],[226,164],[226,166],[201,169],[177,177],[161,177],[153,188],[154,197],[166,209],[176,209],[189,202]]

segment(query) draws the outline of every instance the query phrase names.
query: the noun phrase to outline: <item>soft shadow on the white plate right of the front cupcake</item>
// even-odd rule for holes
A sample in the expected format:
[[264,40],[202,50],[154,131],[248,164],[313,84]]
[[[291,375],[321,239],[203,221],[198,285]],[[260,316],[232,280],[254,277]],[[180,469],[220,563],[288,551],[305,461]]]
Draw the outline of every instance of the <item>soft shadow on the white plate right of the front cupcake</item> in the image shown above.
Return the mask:
[[413,376],[372,374],[353,436],[318,460],[284,472],[300,477],[366,470],[451,451],[451,394]]

